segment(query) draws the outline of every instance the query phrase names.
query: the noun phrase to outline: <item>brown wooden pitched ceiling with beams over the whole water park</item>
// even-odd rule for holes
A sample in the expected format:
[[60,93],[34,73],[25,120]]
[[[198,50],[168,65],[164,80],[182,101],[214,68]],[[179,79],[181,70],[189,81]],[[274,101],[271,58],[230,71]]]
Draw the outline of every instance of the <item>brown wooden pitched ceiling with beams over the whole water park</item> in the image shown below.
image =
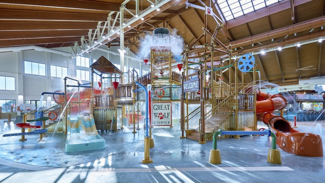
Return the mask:
[[[110,28],[120,26],[120,21],[134,18],[137,10],[141,13],[156,3],[149,1],[0,0],[0,49],[25,45],[72,46],[78,52],[108,34]],[[215,15],[225,23],[216,38],[227,47],[231,45],[233,55],[254,53],[261,80],[292,85],[298,84],[299,79],[325,76],[325,42],[317,41],[319,37],[325,37],[324,0],[283,0],[230,21],[225,21],[219,14],[220,8],[214,0],[189,0],[188,3],[201,7],[204,3],[213,8]],[[185,0],[172,0],[166,5],[159,12],[152,11],[144,21],[138,20],[131,28],[125,28],[124,46],[136,53],[139,37],[158,27],[177,29],[187,45],[203,34],[205,11],[186,6]],[[120,7],[125,8],[124,20],[119,14]],[[207,29],[213,34],[217,22],[212,16],[206,18]],[[120,36],[114,35],[103,43],[108,47],[119,46]],[[297,47],[297,43],[301,46]],[[197,46],[202,44],[204,36]],[[278,50],[278,47],[285,49]],[[216,48],[222,49],[219,45]],[[263,54],[261,50],[266,52]],[[219,55],[214,54],[214,57],[218,60]],[[226,77],[229,76],[226,74]],[[235,77],[234,72],[232,77]],[[253,74],[239,72],[237,77],[248,83]]]

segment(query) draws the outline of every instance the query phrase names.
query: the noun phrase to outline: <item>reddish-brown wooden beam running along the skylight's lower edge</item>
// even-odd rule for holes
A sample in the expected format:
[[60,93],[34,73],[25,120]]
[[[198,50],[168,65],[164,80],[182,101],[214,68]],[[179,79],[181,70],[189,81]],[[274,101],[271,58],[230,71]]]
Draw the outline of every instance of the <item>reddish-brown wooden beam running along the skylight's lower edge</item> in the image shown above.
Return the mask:
[[[313,1],[313,0],[295,0],[294,6],[302,5],[302,4],[308,3],[310,1]],[[254,12],[248,13],[245,16],[240,16],[233,20],[227,21],[227,29],[230,29],[230,28],[236,27],[238,25],[256,20],[256,17],[263,18],[263,17],[266,17],[266,16],[269,16],[269,15],[272,15],[272,14],[278,13],[280,11],[291,8],[290,0],[280,2],[280,4],[281,5],[275,4],[275,5],[265,7],[265,8],[261,8]]]

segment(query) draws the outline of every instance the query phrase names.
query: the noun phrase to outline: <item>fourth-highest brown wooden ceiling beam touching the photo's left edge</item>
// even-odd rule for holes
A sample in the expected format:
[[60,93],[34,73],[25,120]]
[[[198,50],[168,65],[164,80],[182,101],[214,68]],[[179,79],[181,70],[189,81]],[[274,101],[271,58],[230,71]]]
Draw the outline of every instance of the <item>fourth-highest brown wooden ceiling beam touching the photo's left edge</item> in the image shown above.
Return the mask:
[[57,37],[57,38],[41,38],[41,39],[5,39],[0,40],[0,47],[7,46],[22,46],[22,45],[36,45],[46,43],[66,43],[80,41],[80,36],[77,37]]

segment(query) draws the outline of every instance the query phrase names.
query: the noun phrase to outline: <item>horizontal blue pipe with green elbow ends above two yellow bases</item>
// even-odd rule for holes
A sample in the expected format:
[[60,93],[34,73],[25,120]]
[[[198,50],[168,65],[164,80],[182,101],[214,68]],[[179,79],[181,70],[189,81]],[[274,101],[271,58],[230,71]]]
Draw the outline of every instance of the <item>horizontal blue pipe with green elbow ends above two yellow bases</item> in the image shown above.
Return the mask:
[[276,136],[271,130],[265,131],[222,131],[218,130],[213,134],[213,150],[217,150],[217,136],[222,135],[266,135],[272,137],[272,149],[276,149]]

